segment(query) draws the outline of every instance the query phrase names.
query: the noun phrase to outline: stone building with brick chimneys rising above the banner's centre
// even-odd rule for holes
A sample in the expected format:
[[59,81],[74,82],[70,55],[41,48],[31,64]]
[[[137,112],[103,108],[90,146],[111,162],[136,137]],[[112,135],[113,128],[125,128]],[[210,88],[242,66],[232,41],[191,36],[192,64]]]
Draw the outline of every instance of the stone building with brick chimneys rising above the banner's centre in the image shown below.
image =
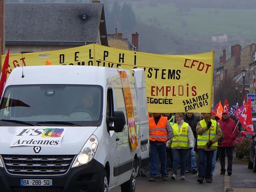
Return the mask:
[[127,38],[123,38],[122,32],[108,34],[108,46],[117,48],[138,51],[139,50],[139,34],[136,32],[131,34],[131,42]]

